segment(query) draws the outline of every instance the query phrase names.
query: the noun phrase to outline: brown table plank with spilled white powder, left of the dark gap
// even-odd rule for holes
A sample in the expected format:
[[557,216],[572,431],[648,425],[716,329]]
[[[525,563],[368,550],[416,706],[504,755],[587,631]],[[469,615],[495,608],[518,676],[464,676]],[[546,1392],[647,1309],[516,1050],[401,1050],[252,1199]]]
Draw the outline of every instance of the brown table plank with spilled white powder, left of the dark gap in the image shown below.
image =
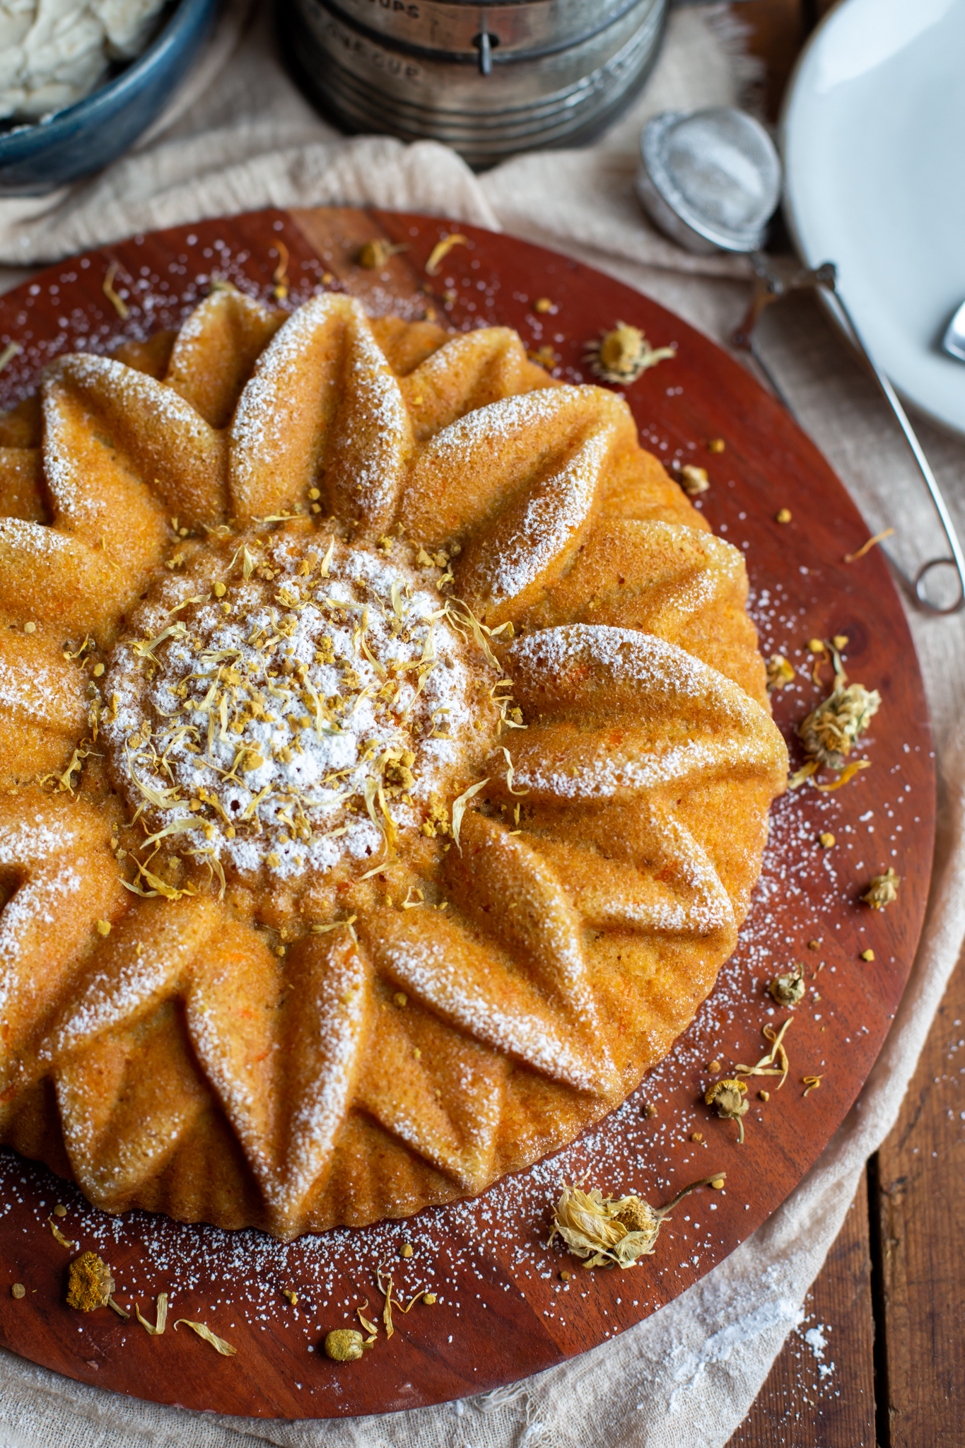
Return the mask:
[[[864,1174],[838,1239],[807,1295],[804,1312],[804,1322],[787,1338],[728,1448],[787,1448],[788,1444],[871,1448],[875,1442],[874,1318]],[[820,1338],[815,1337],[816,1331]]]

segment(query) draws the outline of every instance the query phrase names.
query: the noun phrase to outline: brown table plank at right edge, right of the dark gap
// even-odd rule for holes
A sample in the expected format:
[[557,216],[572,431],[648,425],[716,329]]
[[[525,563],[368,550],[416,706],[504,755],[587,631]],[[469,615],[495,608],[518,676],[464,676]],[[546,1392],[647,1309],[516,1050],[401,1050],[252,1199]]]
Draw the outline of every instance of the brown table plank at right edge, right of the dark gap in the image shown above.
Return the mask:
[[965,957],[878,1153],[890,1448],[965,1442],[964,1096]]

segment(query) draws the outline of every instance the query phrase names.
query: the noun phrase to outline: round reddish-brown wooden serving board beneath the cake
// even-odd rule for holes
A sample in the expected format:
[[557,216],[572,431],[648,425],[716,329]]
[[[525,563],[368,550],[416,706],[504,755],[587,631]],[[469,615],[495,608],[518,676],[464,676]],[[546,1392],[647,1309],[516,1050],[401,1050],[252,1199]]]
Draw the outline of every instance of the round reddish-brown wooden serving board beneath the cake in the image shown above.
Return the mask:
[[[433,248],[451,232],[464,240],[428,277]],[[382,272],[360,269],[360,243],[382,236],[407,251]],[[104,291],[114,266],[126,317]],[[829,668],[812,683],[812,637],[846,634],[849,678],[883,696],[858,752],[872,767],[838,792],[806,785],[777,802],[741,946],[671,1057],[586,1137],[482,1197],[281,1247],[258,1232],[142,1212],[110,1218],[45,1169],[0,1153],[4,1347],[85,1383],[221,1413],[326,1418],[418,1407],[511,1383],[632,1326],[734,1251],[800,1182],[858,1095],[914,956],[935,825],[927,711],[885,562],[877,550],[843,562],[867,529],[788,414],[679,317],[509,236],[359,210],[258,211],[137,236],[0,298],[0,352],[10,340],[23,348],[0,374],[0,407],[30,391],[59,352],[106,350],[122,337],[177,327],[218,277],[266,301],[286,281],[292,307],[328,287],[353,292],[373,313],[434,316],[453,329],[508,324],[532,352],[550,348],[556,375],[569,381],[590,379],[586,345],[618,319],[642,327],[654,346],[676,345],[676,358],[625,395],[645,446],[668,465],[693,462],[710,475],[699,501],[715,531],[747,553],[761,647],[799,669],[794,685],[774,695],[780,725],[794,740],[794,725],[830,692]],[[550,310],[534,307],[543,298]],[[725,450],[712,453],[710,439],[723,439]],[[791,510],[788,524],[775,521],[780,508]],[[800,763],[796,744],[791,754]],[[835,834],[832,849],[820,847],[820,831]],[[898,899],[871,911],[859,895],[888,864],[901,876]],[[872,961],[859,959],[868,948]],[[790,1076],[783,1090],[770,1077],[749,1082],[747,1142],[738,1147],[735,1124],[703,1105],[709,1063],[726,1074],[765,1053],[761,1028],[788,1015],[767,983],[793,960],[807,966],[809,995],[786,1037]],[[807,1095],[806,1076],[820,1076]],[[770,1089],[768,1102],[760,1086]],[[564,1180],[635,1190],[657,1205],[716,1170],[726,1170],[726,1189],[687,1197],[654,1255],[632,1271],[584,1271],[558,1245],[547,1247]],[[46,1225],[56,1202],[68,1208],[58,1219],[67,1237],[110,1261],[120,1303],[137,1300],[153,1322],[156,1295],[172,1295],[163,1337],[109,1309],[82,1316],[65,1306],[69,1253]],[[405,1242],[414,1251],[402,1258]],[[350,1325],[366,1299],[370,1316],[381,1310],[382,1261],[392,1263],[402,1302],[425,1286],[437,1303],[396,1312],[394,1337],[381,1331],[362,1361],[328,1361],[321,1339],[330,1328]],[[14,1281],[26,1297],[12,1297]],[[297,1305],[285,1289],[298,1293]],[[175,1318],[205,1322],[237,1355],[217,1357],[190,1329],[172,1331]]]

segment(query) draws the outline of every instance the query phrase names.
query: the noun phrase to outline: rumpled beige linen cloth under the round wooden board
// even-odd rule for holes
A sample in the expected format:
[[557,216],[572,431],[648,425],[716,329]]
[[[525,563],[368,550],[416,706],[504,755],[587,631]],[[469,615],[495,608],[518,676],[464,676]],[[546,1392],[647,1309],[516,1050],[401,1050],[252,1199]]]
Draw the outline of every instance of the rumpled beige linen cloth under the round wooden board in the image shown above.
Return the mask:
[[[268,7],[271,10],[271,7]],[[136,230],[259,206],[378,204],[505,229],[577,255],[722,340],[747,298],[744,264],[694,259],[644,223],[632,191],[642,120],[734,103],[747,77],[723,10],[674,10],[645,93],[598,146],[473,175],[443,146],[344,140],[275,59],[266,16],[230,7],[171,110],[104,175],[0,203],[0,264],[36,266]],[[12,285],[23,271],[0,271]],[[901,562],[940,537],[872,385],[816,304],[783,304],[765,348],[803,426],[868,526],[894,526]],[[965,524],[965,446],[922,437]],[[404,1415],[328,1422],[220,1419],[98,1392],[0,1352],[1,1448],[723,1448],[747,1415],[833,1242],[865,1158],[891,1128],[965,934],[965,620],[911,613],[940,766],[940,831],[919,957],[891,1034],[836,1137],[774,1216],[700,1283],[612,1342],[516,1390]],[[833,1342],[832,1342],[833,1351]],[[788,1439],[790,1441],[790,1439]]]

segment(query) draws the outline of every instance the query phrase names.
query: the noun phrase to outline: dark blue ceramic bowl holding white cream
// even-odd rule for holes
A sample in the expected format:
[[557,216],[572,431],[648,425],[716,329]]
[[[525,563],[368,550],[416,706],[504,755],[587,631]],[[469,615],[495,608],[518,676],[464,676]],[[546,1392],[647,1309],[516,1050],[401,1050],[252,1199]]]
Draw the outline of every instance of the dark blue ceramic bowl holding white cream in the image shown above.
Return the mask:
[[181,0],[143,55],[49,120],[0,130],[0,195],[41,195],[100,171],[161,113],[211,26],[217,0]]

